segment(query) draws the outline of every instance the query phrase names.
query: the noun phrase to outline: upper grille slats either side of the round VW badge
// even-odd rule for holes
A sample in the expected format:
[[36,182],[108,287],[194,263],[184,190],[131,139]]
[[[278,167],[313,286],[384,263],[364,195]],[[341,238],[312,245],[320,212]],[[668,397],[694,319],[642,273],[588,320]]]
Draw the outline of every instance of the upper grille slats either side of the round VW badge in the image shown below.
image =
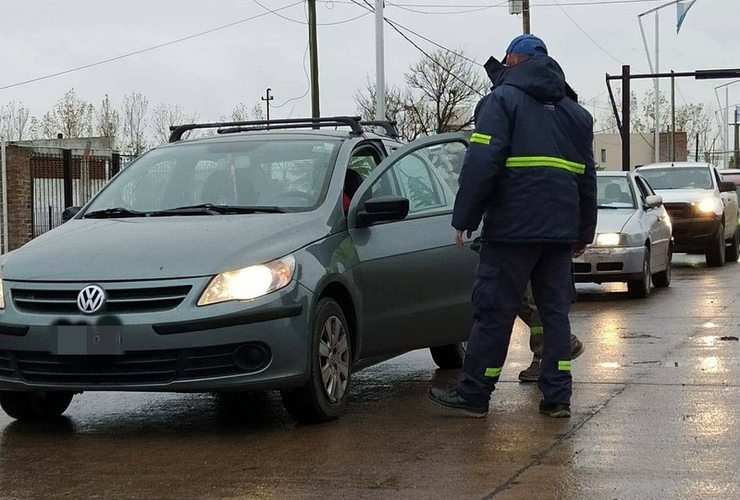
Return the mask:
[[[108,288],[105,312],[111,314],[157,312],[174,309],[185,299],[190,285]],[[13,288],[13,304],[22,312],[37,314],[77,314],[79,289]]]

